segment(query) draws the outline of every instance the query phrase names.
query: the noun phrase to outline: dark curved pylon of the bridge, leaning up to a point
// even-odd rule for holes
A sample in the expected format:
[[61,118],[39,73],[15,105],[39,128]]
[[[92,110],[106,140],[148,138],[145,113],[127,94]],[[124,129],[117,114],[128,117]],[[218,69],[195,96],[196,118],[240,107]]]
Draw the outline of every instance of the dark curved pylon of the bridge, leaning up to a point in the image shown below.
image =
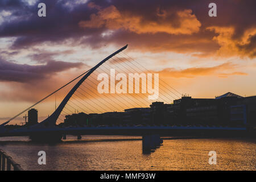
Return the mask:
[[65,98],[63,99],[63,101],[60,103],[60,105],[57,107],[57,109],[46,119],[44,119],[42,122],[32,126],[32,127],[53,127],[56,125],[56,121],[57,118],[59,118],[59,115],[61,113],[61,111],[64,109],[65,105],[67,104],[67,102],[69,101],[69,99],[72,97],[72,95],[76,92],[76,90],[79,88],[79,86],[82,84],[82,82],[85,81],[86,78],[88,78],[90,76],[90,74],[92,74],[98,67],[100,67],[103,63],[105,63],[107,60],[109,60],[111,57],[113,57],[114,55],[117,55],[119,52],[123,51],[124,49],[127,48],[128,45],[122,47],[121,49],[118,49],[117,51],[115,51],[114,53],[112,53],[111,55],[109,55],[108,57],[106,57],[104,60],[100,61],[100,63],[98,63],[96,66],[94,66],[93,68],[91,68],[89,70],[89,72],[87,72],[78,82],[75,86],[73,86],[73,88],[69,91],[69,93],[67,94],[67,96],[65,96]]

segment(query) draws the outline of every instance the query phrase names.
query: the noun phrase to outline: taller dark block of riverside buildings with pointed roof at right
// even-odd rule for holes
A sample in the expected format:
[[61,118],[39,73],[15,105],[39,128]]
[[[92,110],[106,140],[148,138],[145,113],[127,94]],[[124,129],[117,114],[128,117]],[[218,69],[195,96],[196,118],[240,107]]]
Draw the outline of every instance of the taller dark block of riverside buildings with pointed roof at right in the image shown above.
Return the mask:
[[228,92],[216,98],[181,97],[174,104],[152,102],[151,119],[156,125],[247,126],[256,123],[256,96]]

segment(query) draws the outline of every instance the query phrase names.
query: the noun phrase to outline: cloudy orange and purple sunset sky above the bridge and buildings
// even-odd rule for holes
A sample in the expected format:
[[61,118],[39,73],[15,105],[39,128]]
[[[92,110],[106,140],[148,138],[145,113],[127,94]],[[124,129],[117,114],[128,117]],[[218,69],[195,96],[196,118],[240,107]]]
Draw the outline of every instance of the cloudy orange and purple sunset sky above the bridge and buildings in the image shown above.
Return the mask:
[[[46,17],[38,16],[40,2],[46,4]],[[208,15],[212,2],[217,5],[216,17]],[[180,93],[193,98],[214,98],[226,92],[254,96],[255,7],[254,0],[1,0],[0,123],[126,44],[124,53],[110,61],[105,71],[126,67],[133,72],[130,64],[137,72],[144,68],[159,73],[162,84],[157,101],[172,103]],[[97,73],[92,75],[96,84]],[[55,98],[59,104],[71,86],[35,107],[39,120],[55,110]],[[89,81],[84,86],[83,90],[96,89]],[[88,113],[148,107],[152,102],[142,101],[147,97],[140,94],[119,99],[116,94],[97,93],[80,97],[96,102],[95,109],[85,109]],[[105,104],[97,100],[102,97]],[[117,109],[102,106],[115,101],[121,103]],[[78,106],[70,104],[66,113],[74,109]],[[21,115],[15,122],[22,121]]]

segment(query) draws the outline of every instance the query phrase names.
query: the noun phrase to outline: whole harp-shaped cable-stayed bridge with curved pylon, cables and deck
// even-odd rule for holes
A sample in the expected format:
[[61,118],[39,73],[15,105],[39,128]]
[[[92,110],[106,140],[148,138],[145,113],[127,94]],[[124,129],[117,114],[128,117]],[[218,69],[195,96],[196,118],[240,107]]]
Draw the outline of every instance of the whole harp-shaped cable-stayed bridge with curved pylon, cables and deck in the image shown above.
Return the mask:
[[[93,68],[90,68],[88,71],[82,73],[80,76],[71,80],[61,88],[55,90],[48,96],[44,97],[42,100],[36,102],[34,105],[23,110],[19,114],[15,115],[13,118],[10,118],[5,123],[0,125],[0,137],[10,137],[10,136],[30,136],[32,140],[60,140],[63,135],[73,134],[73,135],[84,135],[84,134],[113,134],[113,135],[145,135],[145,134],[170,134],[175,133],[179,134],[180,131],[191,131],[191,130],[201,130],[209,133],[210,130],[243,130],[243,129],[233,129],[233,128],[223,128],[223,127],[184,127],[184,126],[107,126],[107,127],[58,127],[56,126],[57,121],[64,121],[63,115],[72,114],[73,110],[80,110],[84,113],[103,113],[109,111],[122,111],[124,109],[129,109],[131,107],[146,107],[151,104],[151,100],[148,100],[147,97],[141,97],[139,93],[127,94],[127,97],[123,97],[121,94],[114,94],[115,97],[111,95],[111,80],[110,80],[110,94],[106,96],[105,94],[99,94],[96,90],[98,82],[96,73],[105,73],[109,72],[111,69],[115,69],[117,73],[142,73],[143,67],[141,63],[137,60],[132,59],[123,51],[127,48],[127,45],[118,49],[104,60],[100,61]],[[107,63],[108,62],[108,63]],[[152,72],[148,71],[147,72]],[[80,80],[79,80],[80,79]],[[63,89],[65,86],[71,84],[72,82],[77,83],[73,88],[68,92],[68,94],[61,101],[60,105],[53,111],[48,118],[44,119],[42,122],[37,123],[36,125],[22,127],[19,129],[9,130],[4,127],[7,123],[11,122],[19,115],[23,114],[32,107],[38,105],[40,102],[46,100],[46,98],[52,96],[59,90]],[[150,82],[152,86],[152,79]],[[131,86],[134,86],[135,83],[132,82]],[[148,80],[147,80],[148,84]],[[114,82],[115,85],[115,82]],[[130,82],[128,83],[130,88]],[[162,94],[159,94],[159,97],[156,101],[164,101],[166,103],[171,103],[173,100],[176,100],[181,97],[176,89],[174,89],[170,84],[167,84],[163,80],[159,81],[159,86],[161,88]],[[143,90],[141,84],[139,84],[139,90]],[[145,91],[145,90],[144,90]],[[143,92],[143,91],[142,91]]]

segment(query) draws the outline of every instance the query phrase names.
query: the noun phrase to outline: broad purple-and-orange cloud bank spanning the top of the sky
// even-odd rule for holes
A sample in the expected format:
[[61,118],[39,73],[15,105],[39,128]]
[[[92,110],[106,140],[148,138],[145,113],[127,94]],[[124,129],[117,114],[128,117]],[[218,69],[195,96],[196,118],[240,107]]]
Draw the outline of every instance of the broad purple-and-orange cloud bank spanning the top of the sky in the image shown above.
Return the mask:
[[[223,46],[213,40],[222,34],[220,27],[232,27],[230,40],[240,40],[246,36],[247,29],[256,26],[254,0],[214,1],[217,17],[208,16],[208,5],[212,2],[208,0],[40,1],[46,3],[46,18],[37,16],[38,3],[28,6],[22,2],[1,2],[2,9],[13,10],[11,16],[16,17],[2,23],[0,28],[0,37],[17,38],[13,49],[43,42],[84,44],[93,48],[128,43],[131,48],[143,51],[212,55]],[[207,27],[215,28],[207,30]],[[106,30],[113,32],[102,36]],[[253,42],[242,46],[234,42],[233,52],[254,57],[253,45]]]

